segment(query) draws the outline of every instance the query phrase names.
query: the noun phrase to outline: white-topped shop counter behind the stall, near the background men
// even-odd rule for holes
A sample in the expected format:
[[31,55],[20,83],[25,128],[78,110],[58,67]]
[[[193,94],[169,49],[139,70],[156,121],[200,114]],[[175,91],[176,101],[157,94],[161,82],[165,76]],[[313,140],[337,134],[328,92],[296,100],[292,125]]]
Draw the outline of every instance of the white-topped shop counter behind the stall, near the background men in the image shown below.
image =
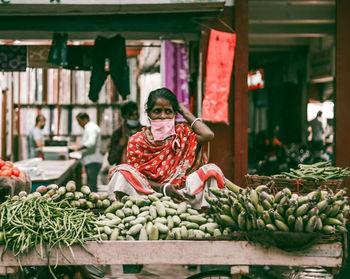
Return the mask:
[[23,160],[15,165],[21,169],[30,169],[28,175],[32,181],[32,190],[40,185],[55,183],[59,186],[74,180],[77,189],[81,187],[81,163],[79,160]]

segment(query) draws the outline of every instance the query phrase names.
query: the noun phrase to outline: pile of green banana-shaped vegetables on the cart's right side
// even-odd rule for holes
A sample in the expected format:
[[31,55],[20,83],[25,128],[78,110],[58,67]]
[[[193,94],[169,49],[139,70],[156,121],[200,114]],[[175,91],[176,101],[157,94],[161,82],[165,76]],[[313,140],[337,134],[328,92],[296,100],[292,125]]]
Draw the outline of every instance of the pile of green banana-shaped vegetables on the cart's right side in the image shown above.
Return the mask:
[[275,195],[261,185],[242,189],[226,184],[228,189],[209,189],[216,197],[206,197],[215,220],[232,230],[346,232],[345,217],[349,214],[345,190],[333,193],[319,188],[306,196],[292,194],[284,188]]

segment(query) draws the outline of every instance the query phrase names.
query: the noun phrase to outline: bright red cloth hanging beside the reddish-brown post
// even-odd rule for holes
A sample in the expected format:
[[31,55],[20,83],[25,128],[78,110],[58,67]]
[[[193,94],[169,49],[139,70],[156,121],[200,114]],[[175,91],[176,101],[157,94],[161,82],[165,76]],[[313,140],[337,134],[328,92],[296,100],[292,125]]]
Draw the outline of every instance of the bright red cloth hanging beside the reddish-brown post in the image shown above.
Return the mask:
[[202,118],[228,123],[228,97],[236,34],[210,31]]

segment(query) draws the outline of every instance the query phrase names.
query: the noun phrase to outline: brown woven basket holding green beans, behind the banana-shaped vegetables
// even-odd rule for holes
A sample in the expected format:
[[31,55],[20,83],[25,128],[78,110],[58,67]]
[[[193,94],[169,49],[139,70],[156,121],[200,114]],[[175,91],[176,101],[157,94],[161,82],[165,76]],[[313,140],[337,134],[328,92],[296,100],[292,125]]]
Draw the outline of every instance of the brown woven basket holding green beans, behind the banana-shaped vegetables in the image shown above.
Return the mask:
[[308,193],[323,186],[330,188],[333,191],[338,191],[342,188],[343,179],[330,179],[325,181],[312,181],[305,179],[289,179],[289,178],[276,178],[270,176],[260,175],[246,175],[247,185],[255,188],[259,185],[274,184],[278,190],[283,188],[289,188],[293,193],[298,195],[307,195]]

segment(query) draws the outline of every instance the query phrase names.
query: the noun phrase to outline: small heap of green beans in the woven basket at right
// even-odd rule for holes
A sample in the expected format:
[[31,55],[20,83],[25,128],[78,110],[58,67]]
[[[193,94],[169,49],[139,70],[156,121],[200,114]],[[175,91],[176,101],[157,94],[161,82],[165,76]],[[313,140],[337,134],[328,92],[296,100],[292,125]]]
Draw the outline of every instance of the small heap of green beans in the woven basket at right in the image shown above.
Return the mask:
[[349,176],[350,171],[347,168],[333,167],[331,162],[318,162],[312,165],[299,164],[298,169],[290,169],[289,172],[273,175],[276,178],[297,178],[306,180],[329,180],[341,179]]

